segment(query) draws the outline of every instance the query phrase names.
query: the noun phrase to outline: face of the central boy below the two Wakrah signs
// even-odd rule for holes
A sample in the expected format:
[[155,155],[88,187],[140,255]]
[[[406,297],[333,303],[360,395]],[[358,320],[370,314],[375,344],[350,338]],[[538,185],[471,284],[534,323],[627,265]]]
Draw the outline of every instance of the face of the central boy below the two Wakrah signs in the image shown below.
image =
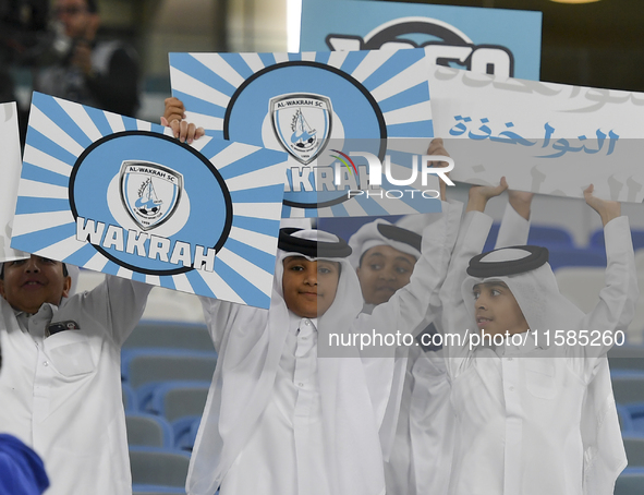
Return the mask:
[[303,318],[316,318],[327,312],[336,299],[340,264],[303,256],[284,258],[282,287],[287,307]]

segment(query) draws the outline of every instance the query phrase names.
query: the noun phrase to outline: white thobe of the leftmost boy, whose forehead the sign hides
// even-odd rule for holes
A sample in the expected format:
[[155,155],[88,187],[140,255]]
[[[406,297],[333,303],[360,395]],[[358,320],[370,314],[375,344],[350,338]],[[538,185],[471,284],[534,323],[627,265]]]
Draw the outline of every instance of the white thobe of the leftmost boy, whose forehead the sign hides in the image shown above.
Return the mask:
[[[92,292],[33,316],[0,300],[0,430],[44,460],[47,495],[132,494],[121,345],[145,307],[150,286],[107,277]],[[78,330],[46,337],[50,323]]]

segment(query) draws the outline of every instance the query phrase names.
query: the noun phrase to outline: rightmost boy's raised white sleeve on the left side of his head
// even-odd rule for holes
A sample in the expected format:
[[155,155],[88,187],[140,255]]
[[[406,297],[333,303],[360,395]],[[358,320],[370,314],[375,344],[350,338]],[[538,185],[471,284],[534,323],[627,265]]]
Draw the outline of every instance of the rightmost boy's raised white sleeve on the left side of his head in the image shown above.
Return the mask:
[[481,212],[470,212],[465,215],[446,280],[440,290],[441,329],[445,337],[442,348],[450,377],[458,376],[469,365],[472,355],[469,335],[478,333],[477,328],[470,328],[472,319],[465,307],[461,286],[467,277],[465,270],[470,259],[481,254],[490,227],[491,218]]

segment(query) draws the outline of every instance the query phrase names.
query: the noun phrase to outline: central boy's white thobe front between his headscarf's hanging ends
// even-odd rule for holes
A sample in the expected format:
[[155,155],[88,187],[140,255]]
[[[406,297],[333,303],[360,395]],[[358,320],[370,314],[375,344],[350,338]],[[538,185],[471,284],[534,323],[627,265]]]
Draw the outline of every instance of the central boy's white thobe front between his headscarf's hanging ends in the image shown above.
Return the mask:
[[223,479],[222,495],[332,493],[323,436],[317,318],[291,314],[289,324],[274,394]]

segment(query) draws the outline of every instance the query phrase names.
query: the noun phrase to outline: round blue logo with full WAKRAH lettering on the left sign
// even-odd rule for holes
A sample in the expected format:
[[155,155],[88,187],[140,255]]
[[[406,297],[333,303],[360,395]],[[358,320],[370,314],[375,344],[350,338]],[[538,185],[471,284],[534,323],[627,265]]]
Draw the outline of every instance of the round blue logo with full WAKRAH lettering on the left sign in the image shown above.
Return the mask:
[[212,164],[147,131],[119,132],[87,147],[72,169],[69,198],[77,239],[147,275],[202,268],[232,226],[230,192]]

